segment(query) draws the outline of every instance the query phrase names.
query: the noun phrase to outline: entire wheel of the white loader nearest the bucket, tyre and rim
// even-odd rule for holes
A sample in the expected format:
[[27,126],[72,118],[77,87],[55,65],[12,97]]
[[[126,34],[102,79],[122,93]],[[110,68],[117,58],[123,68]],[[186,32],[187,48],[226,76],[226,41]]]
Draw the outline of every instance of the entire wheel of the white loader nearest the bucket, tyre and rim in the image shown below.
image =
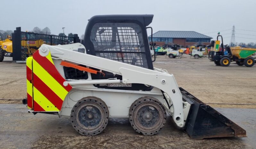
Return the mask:
[[132,103],[129,121],[136,132],[152,136],[164,127],[166,110],[158,99],[141,97]]

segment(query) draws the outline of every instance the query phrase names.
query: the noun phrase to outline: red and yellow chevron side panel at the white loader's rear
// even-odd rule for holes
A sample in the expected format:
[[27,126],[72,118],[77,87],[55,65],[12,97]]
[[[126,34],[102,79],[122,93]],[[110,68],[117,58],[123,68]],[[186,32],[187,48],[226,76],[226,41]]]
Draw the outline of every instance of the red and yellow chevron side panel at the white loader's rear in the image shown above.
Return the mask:
[[64,86],[66,80],[56,69],[50,52],[42,57],[39,51],[33,54],[32,60],[33,109],[36,112],[58,112],[62,103],[72,89],[71,85]]

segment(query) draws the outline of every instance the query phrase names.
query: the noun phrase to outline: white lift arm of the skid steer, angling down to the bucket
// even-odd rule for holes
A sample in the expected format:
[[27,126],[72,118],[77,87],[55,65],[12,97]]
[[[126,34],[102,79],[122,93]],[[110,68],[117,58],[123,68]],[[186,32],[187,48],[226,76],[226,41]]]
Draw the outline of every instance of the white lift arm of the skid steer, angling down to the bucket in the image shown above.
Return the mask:
[[[85,47],[81,43],[73,43],[61,46],[43,44],[39,48],[39,54],[47,56],[49,51],[54,58],[60,58],[69,62],[86,65],[89,67],[105,70],[113,74],[122,75],[123,83],[141,83],[154,86],[164,91],[171,99],[173,105],[173,119],[178,127],[184,127],[184,112],[182,94],[175,81],[173,74],[150,70],[130,64],[104,59],[101,57],[76,52],[78,48]],[[94,82],[95,84],[95,82]],[[167,107],[168,108],[168,107]]]

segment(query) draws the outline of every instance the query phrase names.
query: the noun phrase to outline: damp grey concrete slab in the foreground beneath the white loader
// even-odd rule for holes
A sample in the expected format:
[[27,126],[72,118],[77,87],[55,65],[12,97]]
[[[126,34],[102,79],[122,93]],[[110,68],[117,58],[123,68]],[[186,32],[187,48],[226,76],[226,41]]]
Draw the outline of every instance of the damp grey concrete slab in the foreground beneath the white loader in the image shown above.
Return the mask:
[[136,133],[127,120],[110,120],[98,136],[79,135],[68,117],[30,114],[25,105],[0,104],[0,148],[255,148],[256,109],[216,108],[247,131],[246,138],[192,140],[172,122],[155,136]]

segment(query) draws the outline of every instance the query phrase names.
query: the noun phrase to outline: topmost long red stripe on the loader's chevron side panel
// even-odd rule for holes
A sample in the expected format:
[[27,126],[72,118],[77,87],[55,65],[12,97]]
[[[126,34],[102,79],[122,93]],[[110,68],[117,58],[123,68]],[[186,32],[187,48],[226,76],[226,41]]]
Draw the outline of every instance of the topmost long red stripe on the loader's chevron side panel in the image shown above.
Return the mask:
[[36,51],[33,54],[33,59],[38,62],[38,64],[43,67],[59,84],[64,87],[68,92],[72,89],[72,86],[68,84],[68,86],[64,86],[63,82],[66,80],[60,75],[56,67],[51,63],[46,57],[42,57],[39,54],[39,51]]

